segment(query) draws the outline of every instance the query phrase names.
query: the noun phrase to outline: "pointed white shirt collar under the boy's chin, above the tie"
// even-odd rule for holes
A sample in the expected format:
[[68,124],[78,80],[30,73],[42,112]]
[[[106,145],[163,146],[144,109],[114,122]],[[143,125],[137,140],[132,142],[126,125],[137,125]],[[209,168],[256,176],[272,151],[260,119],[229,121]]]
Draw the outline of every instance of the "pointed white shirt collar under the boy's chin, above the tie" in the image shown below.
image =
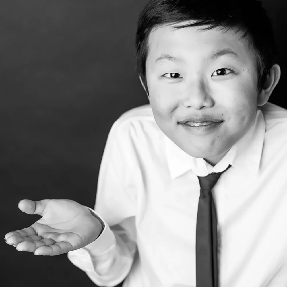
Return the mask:
[[227,154],[212,166],[203,158],[190,156],[164,135],[166,142],[167,163],[172,179],[192,170],[197,176],[206,176],[212,172],[222,172],[228,165],[255,177],[259,170],[266,123],[261,110],[257,109],[255,121],[249,131],[236,143]]

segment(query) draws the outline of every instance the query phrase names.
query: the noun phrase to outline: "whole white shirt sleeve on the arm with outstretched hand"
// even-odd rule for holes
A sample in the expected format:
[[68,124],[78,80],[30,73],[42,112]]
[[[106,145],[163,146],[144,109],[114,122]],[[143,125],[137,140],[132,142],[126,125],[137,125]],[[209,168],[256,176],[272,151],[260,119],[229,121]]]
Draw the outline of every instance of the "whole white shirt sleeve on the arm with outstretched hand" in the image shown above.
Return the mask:
[[112,126],[104,149],[94,210],[89,208],[103,230],[92,243],[68,252],[68,259],[95,284],[107,287],[126,278],[137,249],[132,151],[129,133],[121,129],[118,121]]

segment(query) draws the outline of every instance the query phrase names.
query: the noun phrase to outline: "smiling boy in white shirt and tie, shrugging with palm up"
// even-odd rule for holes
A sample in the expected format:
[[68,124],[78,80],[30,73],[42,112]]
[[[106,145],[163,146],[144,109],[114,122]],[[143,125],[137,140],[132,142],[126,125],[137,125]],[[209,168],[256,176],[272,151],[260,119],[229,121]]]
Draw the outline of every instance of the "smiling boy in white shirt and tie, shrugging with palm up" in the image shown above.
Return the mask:
[[286,286],[287,111],[268,102],[280,67],[261,3],[152,0],[136,48],[150,105],[111,128],[95,212],[20,201],[43,217],[7,243],[68,252],[99,286]]

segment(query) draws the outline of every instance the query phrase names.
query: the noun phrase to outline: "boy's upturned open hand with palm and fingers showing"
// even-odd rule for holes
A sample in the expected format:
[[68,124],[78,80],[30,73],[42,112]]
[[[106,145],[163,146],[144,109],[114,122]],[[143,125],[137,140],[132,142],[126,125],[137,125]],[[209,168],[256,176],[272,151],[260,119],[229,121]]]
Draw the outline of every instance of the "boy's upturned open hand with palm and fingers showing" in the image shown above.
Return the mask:
[[85,206],[69,199],[19,202],[28,214],[42,216],[30,227],[9,232],[7,244],[35,255],[59,255],[82,248],[94,241],[102,230],[99,220]]

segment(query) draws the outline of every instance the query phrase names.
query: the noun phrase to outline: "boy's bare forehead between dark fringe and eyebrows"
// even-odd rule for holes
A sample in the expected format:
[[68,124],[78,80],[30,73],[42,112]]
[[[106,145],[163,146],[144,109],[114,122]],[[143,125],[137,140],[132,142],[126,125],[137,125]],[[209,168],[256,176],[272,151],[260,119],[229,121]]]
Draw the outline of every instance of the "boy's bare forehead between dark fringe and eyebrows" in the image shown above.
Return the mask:
[[[187,24],[187,23],[183,23]],[[203,28],[203,27],[200,27]],[[234,51],[242,62],[254,59],[248,45],[248,38],[241,39],[242,33],[234,30],[201,30],[199,27],[174,29],[163,25],[152,30],[148,38],[147,61],[154,62],[160,55],[169,54],[182,58],[206,60],[212,52],[220,49]]]

